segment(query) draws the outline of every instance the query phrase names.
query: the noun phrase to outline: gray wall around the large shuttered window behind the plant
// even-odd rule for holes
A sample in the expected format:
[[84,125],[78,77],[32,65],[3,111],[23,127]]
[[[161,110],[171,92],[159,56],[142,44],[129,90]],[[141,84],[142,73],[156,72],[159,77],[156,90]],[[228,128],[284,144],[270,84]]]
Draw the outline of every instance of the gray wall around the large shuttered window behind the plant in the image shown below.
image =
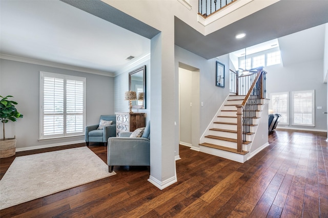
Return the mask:
[[[39,139],[39,71],[87,78],[87,120],[86,124],[97,124],[100,115],[114,114],[114,78],[60,68],[0,60],[0,95],[12,95],[17,109],[24,115],[17,122],[6,124],[6,137],[16,135],[17,148],[42,145],[63,145],[84,141],[84,136],[58,140]],[[2,131],[1,131],[2,137]]]

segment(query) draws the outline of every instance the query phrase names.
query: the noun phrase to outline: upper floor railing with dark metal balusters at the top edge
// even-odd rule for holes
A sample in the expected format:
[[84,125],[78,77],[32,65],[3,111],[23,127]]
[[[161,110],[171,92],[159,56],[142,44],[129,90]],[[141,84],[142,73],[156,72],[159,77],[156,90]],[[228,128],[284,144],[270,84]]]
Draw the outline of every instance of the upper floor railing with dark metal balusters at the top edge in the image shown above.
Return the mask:
[[219,11],[237,0],[198,0],[198,14],[203,17]]

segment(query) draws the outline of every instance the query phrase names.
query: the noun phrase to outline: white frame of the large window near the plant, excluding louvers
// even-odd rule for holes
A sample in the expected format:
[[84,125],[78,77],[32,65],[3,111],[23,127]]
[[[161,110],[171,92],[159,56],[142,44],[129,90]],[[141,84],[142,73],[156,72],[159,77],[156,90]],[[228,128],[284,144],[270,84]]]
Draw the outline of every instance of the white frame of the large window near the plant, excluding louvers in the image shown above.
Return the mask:
[[[49,73],[40,71],[39,72],[40,79],[39,79],[39,140],[45,140],[45,139],[56,139],[56,138],[67,138],[67,137],[75,137],[75,136],[83,136],[85,135],[85,126],[86,126],[86,78],[85,77],[77,77],[77,76],[70,76],[70,75],[64,75],[64,74],[57,74],[57,73]],[[60,134],[50,134],[45,135],[44,134],[44,118],[45,118],[45,111],[44,111],[44,78],[57,78],[57,79],[63,79],[64,80],[64,86],[63,86],[63,133]],[[83,82],[83,112],[82,113],[71,113],[71,115],[76,114],[82,114],[83,117],[83,124],[82,124],[82,130],[75,132],[75,133],[68,133],[67,132],[67,115],[70,114],[67,111],[68,105],[66,104],[67,101],[67,80],[74,80],[74,81],[80,81]]]

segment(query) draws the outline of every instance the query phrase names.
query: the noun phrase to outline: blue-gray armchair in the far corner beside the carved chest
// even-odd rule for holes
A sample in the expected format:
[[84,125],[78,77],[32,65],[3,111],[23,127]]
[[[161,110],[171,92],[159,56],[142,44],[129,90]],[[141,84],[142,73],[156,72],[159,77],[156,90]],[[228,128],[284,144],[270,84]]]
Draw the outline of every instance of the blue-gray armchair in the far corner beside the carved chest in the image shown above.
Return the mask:
[[99,124],[86,126],[87,146],[89,146],[89,142],[104,142],[104,146],[106,146],[108,138],[116,136],[116,116],[100,115],[100,120],[113,122],[112,125],[104,126],[103,129],[98,129]]

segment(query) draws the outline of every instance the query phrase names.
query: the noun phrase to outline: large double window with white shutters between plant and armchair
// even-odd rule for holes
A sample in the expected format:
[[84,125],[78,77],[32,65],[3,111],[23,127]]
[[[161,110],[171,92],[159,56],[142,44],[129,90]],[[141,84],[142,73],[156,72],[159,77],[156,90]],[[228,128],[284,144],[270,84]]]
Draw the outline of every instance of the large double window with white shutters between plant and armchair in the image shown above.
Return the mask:
[[40,139],[84,135],[86,78],[40,72]]

